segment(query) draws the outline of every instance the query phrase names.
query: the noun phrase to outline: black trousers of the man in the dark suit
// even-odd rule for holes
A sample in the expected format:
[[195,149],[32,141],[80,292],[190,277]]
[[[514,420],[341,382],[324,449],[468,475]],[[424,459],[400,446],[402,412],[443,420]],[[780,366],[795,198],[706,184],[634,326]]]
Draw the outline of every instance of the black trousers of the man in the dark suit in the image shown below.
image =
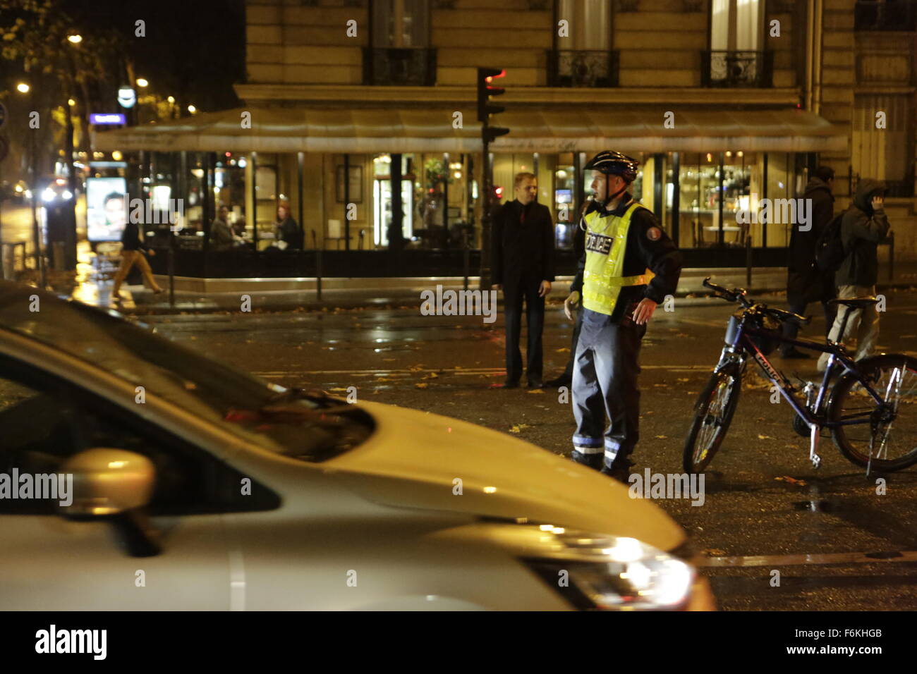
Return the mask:
[[525,301],[525,325],[528,328],[528,348],[525,350],[525,372],[529,381],[541,381],[544,354],[541,334],[545,328],[545,298],[538,297],[541,279],[520,279],[503,283],[503,311],[506,326],[506,379],[522,379],[522,306]]

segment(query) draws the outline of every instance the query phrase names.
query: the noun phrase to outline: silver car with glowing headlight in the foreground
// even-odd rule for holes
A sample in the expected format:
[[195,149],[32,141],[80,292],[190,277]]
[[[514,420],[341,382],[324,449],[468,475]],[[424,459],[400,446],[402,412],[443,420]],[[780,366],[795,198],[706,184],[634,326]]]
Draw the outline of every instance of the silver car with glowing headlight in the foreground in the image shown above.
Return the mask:
[[0,610],[713,608],[679,525],[595,471],[10,282],[0,429],[0,474],[64,476],[0,498]]

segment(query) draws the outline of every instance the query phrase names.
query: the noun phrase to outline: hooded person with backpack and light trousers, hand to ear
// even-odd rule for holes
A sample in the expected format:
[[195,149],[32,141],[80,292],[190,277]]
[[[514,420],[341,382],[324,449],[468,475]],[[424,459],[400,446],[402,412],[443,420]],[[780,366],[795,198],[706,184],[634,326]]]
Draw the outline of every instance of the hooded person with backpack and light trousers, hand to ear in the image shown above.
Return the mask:
[[[876,294],[878,281],[878,242],[889,234],[889,218],[885,215],[885,183],[865,178],[856,185],[856,196],[853,205],[841,218],[839,234],[840,248],[844,251],[844,260],[834,276],[838,297],[869,297]],[[824,252],[834,243],[820,242],[819,252]],[[845,342],[847,337],[857,331],[855,360],[866,358],[878,340],[878,311],[870,305],[853,311],[847,319],[844,335],[841,335],[841,324],[845,312],[842,307],[834,318],[834,326],[828,338]],[[818,359],[818,370],[824,371],[829,355],[823,353]]]

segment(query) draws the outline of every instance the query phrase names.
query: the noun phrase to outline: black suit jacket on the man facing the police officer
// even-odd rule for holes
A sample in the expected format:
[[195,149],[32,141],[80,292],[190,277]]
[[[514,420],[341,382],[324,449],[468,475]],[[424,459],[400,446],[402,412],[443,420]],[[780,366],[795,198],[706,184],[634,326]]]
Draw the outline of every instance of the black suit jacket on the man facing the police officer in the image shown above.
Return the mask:
[[[525,215],[525,218],[523,218]],[[514,199],[493,217],[493,283],[554,281],[554,221],[544,204]]]

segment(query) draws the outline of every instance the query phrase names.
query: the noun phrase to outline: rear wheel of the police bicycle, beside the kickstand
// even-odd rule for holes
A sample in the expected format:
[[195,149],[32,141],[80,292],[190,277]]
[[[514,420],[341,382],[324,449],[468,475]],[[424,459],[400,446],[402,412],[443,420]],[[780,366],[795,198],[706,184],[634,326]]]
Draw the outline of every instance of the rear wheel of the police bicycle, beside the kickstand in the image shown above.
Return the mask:
[[917,359],[884,354],[856,363],[860,376],[873,388],[877,402],[845,372],[834,384],[828,421],[834,424],[834,444],[858,466],[900,470],[917,463]]

